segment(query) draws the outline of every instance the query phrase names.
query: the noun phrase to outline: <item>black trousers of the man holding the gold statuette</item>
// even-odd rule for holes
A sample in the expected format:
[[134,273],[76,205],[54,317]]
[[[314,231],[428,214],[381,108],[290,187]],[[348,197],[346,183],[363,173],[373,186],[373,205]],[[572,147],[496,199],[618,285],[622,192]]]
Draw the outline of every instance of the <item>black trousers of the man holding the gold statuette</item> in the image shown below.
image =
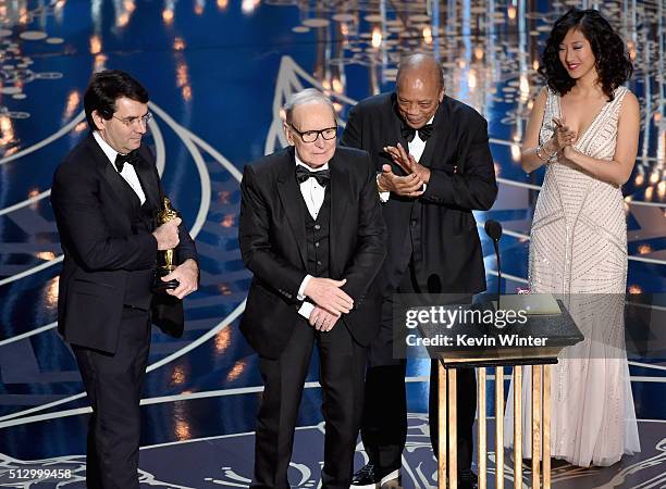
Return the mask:
[[139,401],[150,348],[148,311],[124,308],[114,354],[72,346],[92,415],[88,489],[138,489]]

